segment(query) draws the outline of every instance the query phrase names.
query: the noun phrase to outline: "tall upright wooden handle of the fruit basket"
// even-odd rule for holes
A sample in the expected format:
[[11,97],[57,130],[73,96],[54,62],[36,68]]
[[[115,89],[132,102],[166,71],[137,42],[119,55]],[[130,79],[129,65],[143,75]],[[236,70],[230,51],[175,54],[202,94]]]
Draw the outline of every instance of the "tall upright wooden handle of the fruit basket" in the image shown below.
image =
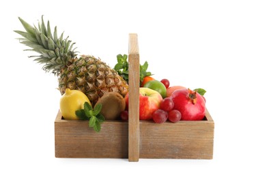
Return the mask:
[[139,161],[139,45],[136,33],[129,34],[128,160]]

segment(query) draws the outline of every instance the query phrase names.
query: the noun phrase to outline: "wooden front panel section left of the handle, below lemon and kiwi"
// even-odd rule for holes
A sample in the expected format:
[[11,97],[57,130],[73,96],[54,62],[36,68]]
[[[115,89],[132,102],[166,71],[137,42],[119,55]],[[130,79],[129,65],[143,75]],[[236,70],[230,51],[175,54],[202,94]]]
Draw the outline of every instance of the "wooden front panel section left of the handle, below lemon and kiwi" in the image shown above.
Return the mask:
[[88,121],[55,121],[55,157],[128,158],[128,123],[106,121],[99,133]]

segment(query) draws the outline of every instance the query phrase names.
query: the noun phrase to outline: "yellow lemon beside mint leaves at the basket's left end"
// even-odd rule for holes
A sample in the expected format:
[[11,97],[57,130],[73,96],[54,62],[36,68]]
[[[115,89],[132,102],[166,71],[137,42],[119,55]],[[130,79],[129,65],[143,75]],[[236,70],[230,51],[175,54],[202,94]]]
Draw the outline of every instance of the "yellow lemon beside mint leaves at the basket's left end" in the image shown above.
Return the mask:
[[79,117],[76,116],[76,110],[83,109],[85,101],[91,105],[89,99],[83,92],[66,88],[66,92],[61,96],[59,101],[59,110],[63,118],[78,120]]

